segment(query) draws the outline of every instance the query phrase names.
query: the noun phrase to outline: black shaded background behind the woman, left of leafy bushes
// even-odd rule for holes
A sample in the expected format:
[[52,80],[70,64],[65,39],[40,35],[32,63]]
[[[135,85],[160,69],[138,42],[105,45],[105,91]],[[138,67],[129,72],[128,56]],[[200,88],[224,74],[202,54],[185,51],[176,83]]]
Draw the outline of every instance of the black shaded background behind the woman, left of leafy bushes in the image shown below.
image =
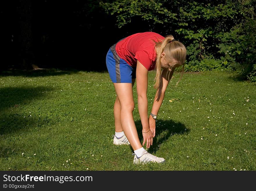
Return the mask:
[[112,44],[150,30],[141,18],[118,28],[116,18],[105,13],[99,1],[19,0],[4,1],[0,6],[1,69],[32,69],[34,64],[40,68],[106,70],[106,53]]

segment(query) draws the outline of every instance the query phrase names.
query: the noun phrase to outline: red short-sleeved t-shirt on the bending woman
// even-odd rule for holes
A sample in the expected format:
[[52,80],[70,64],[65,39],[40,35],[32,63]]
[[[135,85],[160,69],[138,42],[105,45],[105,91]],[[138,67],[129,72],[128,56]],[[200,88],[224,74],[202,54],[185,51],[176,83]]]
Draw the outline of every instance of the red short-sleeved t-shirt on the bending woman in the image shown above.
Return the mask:
[[130,66],[136,67],[138,60],[150,71],[155,69],[156,65],[155,42],[163,39],[163,36],[153,32],[136,33],[119,41],[115,50]]

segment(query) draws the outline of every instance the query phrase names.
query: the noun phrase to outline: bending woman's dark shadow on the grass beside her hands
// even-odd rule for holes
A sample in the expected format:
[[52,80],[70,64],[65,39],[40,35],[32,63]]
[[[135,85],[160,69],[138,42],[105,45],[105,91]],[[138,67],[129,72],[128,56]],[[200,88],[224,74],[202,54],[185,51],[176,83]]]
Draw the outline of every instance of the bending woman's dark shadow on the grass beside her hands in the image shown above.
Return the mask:
[[[138,136],[141,142],[143,143],[143,135],[141,133],[142,131],[142,125],[141,121],[136,121],[135,122],[137,131],[138,131]],[[185,127],[184,124],[182,123],[176,123],[173,120],[157,120],[156,122],[156,135],[153,140],[153,145],[150,146],[150,149],[147,151],[149,153],[154,153],[157,151],[160,147],[160,145],[166,141],[167,139],[170,138],[170,136],[174,134],[184,134],[188,133],[189,130]],[[146,145],[146,143],[145,143]],[[145,146],[144,145],[144,146]],[[131,150],[133,151],[132,147],[130,146]]]

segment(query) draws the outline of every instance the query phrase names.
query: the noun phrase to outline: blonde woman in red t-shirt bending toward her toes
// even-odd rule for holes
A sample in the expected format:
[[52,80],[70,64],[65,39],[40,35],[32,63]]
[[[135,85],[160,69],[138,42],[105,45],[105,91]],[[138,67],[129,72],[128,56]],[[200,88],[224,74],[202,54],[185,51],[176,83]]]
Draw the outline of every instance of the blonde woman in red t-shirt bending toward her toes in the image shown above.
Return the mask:
[[[146,148],[150,148],[153,144],[156,133],[155,120],[163,102],[165,90],[176,67],[183,66],[182,74],[184,73],[185,60],[186,47],[181,42],[175,40],[172,35],[164,38],[154,32],[130,35],[114,44],[107,53],[106,65],[116,92],[113,144],[131,144],[134,149],[134,164],[165,162],[164,158],[148,153],[143,145],[146,143]],[[157,92],[148,117],[148,71],[153,69],[156,69],[154,88]],[[132,88],[135,78],[137,79],[138,111],[142,123],[142,145],[133,119]]]

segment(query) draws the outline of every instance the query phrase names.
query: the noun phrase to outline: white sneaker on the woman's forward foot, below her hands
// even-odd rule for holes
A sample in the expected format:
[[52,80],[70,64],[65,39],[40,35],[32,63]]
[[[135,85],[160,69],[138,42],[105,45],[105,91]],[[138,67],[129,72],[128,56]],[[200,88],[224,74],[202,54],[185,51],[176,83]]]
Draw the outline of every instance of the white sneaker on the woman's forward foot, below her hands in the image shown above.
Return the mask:
[[133,159],[134,164],[164,163],[165,162],[164,158],[154,156],[154,155],[148,153],[146,150],[142,152],[142,156],[140,158],[137,158],[135,153],[133,153],[132,155],[134,155],[134,159]]

